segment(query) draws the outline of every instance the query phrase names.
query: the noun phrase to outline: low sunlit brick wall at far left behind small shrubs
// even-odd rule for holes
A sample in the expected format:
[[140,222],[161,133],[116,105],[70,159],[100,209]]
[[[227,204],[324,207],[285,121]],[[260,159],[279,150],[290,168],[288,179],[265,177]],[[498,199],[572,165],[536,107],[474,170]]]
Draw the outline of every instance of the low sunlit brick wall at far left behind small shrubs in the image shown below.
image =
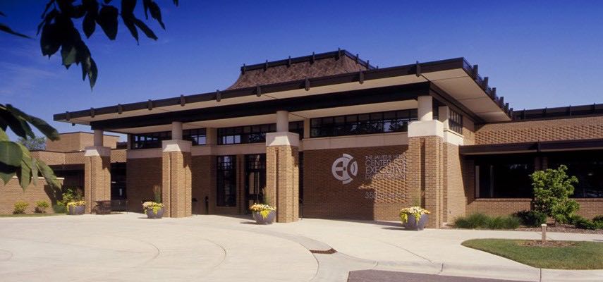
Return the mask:
[[19,180],[13,178],[4,185],[0,185],[0,214],[12,214],[15,209],[15,203],[18,201],[27,202],[30,204],[25,210],[26,214],[33,214],[36,207],[37,201],[46,201],[50,204],[50,207],[46,209],[46,212],[53,213],[52,205],[56,204],[57,197],[61,192],[58,189],[51,188],[46,184],[44,178],[37,179],[37,185],[30,184],[25,191],[19,185]]

